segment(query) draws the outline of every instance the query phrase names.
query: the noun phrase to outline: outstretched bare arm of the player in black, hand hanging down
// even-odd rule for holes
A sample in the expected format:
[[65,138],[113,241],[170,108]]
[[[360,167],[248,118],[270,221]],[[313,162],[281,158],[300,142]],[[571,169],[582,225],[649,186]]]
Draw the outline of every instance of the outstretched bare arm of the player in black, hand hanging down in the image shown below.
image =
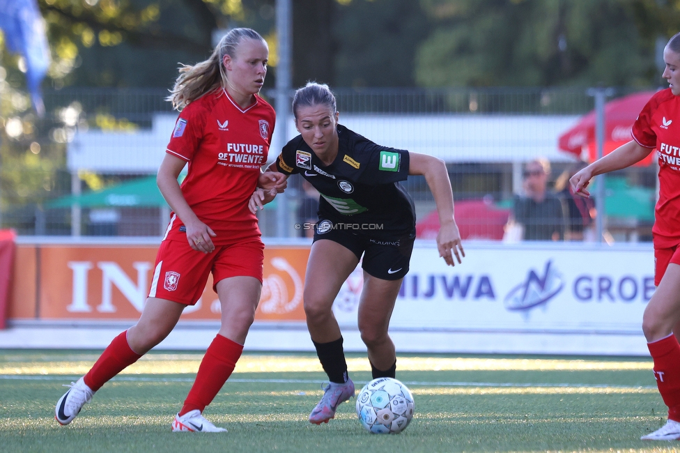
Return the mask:
[[435,199],[440,224],[437,234],[439,256],[449,266],[456,265],[453,255],[456,256],[458,263],[461,263],[465,250],[454,219],[454,195],[451,192],[451,181],[445,162],[431,155],[409,153],[408,174],[425,176],[425,181]]

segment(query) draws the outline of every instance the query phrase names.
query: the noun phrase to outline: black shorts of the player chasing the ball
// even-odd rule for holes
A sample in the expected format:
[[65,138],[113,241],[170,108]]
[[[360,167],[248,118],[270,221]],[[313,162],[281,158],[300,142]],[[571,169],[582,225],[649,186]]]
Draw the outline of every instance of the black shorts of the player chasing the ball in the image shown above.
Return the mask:
[[353,252],[357,259],[361,259],[362,269],[369,275],[383,280],[399,280],[408,272],[408,264],[413,251],[415,229],[408,233],[395,234],[380,231],[380,235],[368,230],[339,228],[330,220],[319,220],[314,227],[314,242],[320,239],[332,240]]

